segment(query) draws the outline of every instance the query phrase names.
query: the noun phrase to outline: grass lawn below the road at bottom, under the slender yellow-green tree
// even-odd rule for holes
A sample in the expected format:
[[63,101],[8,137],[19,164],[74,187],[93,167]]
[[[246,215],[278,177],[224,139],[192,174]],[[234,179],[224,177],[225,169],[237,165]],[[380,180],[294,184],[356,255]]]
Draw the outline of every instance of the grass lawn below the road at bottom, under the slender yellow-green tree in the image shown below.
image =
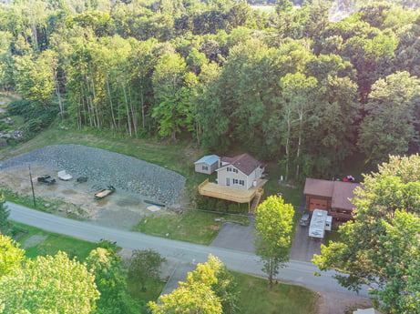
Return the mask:
[[266,279],[232,272],[241,289],[241,314],[314,314],[319,296],[310,289],[286,284],[270,290]]

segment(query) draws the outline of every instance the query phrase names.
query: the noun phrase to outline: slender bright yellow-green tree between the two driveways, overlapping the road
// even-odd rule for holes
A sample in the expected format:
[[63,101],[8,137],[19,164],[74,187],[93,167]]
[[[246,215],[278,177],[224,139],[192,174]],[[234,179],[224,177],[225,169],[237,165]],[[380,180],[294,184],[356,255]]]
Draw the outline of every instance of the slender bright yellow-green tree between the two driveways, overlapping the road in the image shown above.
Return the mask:
[[289,260],[294,209],[281,197],[264,200],[255,213],[256,254],[263,262],[270,288],[279,268]]

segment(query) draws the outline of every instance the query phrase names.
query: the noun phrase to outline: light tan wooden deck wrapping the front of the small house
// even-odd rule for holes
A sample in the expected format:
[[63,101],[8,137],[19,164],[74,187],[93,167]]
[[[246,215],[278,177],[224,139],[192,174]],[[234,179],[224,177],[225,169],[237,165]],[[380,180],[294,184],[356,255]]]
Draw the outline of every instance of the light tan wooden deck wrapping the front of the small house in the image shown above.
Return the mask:
[[252,198],[255,197],[257,190],[261,188],[265,182],[267,182],[267,180],[260,180],[257,187],[239,189],[219,186],[216,183],[209,182],[209,179],[207,179],[200,184],[199,193],[200,195],[211,198],[221,198],[237,203],[250,203]]

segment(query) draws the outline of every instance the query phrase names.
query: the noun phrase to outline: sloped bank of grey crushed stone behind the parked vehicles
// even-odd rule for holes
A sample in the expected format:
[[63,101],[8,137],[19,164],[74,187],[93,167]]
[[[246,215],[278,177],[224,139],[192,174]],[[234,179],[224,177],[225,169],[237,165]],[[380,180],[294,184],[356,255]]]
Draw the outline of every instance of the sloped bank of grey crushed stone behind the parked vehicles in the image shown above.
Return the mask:
[[88,182],[95,182],[103,187],[112,185],[165,205],[173,204],[185,185],[185,177],[164,167],[108,150],[81,145],[52,145],[39,148],[3,161],[0,169],[20,167],[29,163],[64,169],[75,179],[88,177]]

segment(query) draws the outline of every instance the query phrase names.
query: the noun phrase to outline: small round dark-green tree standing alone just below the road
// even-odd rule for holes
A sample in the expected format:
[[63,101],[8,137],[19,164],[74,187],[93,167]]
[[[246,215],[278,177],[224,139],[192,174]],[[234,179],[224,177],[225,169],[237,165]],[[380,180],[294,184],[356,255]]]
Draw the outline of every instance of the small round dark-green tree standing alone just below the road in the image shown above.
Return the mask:
[[160,265],[165,260],[151,248],[135,249],[128,261],[128,278],[138,280],[141,290],[146,291],[149,279],[159,279]]

